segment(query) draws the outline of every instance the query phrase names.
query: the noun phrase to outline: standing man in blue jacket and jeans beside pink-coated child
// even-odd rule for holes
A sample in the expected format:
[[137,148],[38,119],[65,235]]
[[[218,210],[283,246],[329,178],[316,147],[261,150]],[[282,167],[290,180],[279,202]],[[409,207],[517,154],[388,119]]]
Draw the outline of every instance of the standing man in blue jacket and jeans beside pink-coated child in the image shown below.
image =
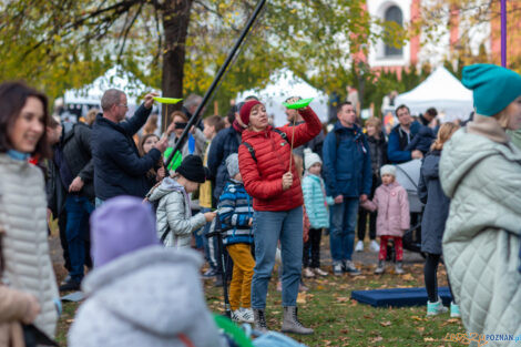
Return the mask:
[[337,109],[338,122],[324,141],[326,191],[335,198],[331,207],[329,241],[333,273],[351,276],[360,272],[351,261],[358,204],[367,200],[371,190],[371,160],[367,137],[355,124],[356,113],[350,102]]

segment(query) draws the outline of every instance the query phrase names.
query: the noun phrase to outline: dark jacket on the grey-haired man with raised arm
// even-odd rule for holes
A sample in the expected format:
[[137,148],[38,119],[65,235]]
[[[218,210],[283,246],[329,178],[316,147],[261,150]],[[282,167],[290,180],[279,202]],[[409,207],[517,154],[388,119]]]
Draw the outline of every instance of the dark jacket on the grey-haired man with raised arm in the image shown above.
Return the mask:
[[118,124],[98,115],[91,143],[96,197],[144,197],[149,192],[146,172],[161,159],[161,152],[152,149],[140,157],[132,136],[145,124],[151,111],[141,105],[134,116]]

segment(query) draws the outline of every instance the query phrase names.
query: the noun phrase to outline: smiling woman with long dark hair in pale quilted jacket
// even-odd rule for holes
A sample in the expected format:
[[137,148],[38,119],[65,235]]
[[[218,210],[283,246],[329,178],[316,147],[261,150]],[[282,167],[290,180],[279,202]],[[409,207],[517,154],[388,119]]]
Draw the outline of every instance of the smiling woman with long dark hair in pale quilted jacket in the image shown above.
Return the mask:
[[[49,157],[47,96],[21,82],[0,84],[0,227],[3,284],[38,298],[34,325],[54,336],[60,297],[49,255],[42,172],[30,156]],[[57,309],[58,308],[58,309]]]

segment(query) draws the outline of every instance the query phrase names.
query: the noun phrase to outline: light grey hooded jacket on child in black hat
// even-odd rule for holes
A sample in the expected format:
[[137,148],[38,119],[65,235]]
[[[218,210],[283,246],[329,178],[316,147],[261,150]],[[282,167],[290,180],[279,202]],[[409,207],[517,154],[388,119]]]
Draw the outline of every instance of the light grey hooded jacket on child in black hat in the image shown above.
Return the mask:
[[164,241],[166,247],[190,248],[192,232],[206,223],[204,214],[192,216],[190,198],[184,187],[174,178],[166,177],[155,188],[152,188],[147,198],[159,202],[156,210],[157,237],[161,238],[170,228]]

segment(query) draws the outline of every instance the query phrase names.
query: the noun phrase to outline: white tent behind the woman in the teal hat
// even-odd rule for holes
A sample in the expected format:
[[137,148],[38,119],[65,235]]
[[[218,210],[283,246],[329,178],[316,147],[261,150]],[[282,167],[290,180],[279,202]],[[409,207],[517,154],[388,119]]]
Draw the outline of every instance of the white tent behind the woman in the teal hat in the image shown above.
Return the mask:
[[472,92],[461,84],[446,68],[439,67],[413,90],[399,94],[395,105],[406,104],[412,114],[436,108],[445,114],[445,122],[467,120],[473,111]]

